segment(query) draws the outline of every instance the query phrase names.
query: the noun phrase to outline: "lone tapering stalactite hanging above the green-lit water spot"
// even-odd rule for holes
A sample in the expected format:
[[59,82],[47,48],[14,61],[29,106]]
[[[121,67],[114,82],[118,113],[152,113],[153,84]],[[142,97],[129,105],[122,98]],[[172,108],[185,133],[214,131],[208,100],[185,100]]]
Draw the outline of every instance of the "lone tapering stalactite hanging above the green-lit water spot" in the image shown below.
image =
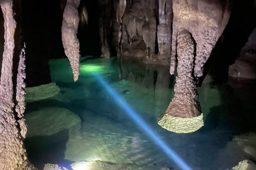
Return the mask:
[[63,13],[62,21],[62,43],[74,74],[74,81],[79,76],[79,40],[77,39],[77,29],[79,24],[79,15],[77,8],[80,0],[67,0]]

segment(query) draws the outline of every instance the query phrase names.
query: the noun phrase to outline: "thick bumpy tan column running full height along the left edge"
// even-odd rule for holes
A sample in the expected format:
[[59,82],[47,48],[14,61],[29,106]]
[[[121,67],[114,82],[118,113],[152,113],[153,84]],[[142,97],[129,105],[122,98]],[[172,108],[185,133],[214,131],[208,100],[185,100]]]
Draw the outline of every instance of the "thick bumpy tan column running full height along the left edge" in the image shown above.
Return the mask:
[[[13,113],[12,66],[16,22],[13,18],[12,0],[3,0],[0,5],[3,11],[5,29],[0,81],[0,170],[31,170],[35,168],[27,160],[26,150],[23,147],[22,136],[18,128],[19,124]],[[22,66],[19,68],[22,70]],[[23,83],[19,82],[19,84],[22,85]],[[20,96],[20,99],[23,100],[23,97]],[[20,103],[21,107],[18,109],[21,112],[23,111],[22,105]],[[21,112],[19,116],[22,115]]]

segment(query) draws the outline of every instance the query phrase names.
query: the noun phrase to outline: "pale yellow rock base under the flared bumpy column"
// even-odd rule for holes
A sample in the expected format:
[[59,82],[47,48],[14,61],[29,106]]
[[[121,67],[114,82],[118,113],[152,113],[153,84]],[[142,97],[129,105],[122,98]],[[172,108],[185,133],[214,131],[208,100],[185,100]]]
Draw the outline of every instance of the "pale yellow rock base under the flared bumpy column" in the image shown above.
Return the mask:
[[158,125],[175,133],[190,133],[204,126],[203,114],[195,118],[176,118],[169,114],[158,118]]

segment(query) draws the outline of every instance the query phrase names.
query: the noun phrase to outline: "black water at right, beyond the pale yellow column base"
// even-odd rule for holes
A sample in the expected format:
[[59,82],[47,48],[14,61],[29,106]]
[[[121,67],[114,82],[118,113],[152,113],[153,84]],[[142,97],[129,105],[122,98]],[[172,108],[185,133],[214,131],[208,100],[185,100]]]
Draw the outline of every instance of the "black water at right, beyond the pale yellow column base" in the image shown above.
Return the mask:
[[[237,84],[236,84],[237,83]],[[223,129],[233,135],[256,132],[255,80],[229,78],[227,84],[218,85],[222,105],[210,108],[204,130]]]

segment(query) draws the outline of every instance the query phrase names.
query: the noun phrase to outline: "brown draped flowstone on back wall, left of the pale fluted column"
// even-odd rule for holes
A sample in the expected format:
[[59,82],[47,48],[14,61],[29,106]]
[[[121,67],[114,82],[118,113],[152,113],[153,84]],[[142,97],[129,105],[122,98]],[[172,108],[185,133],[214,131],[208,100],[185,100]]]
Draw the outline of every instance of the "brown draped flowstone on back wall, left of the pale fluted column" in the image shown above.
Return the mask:
[[[119,55],[152,58],[155,54],[155,0],[120,0],[113,25]],[[118,36],[117,36],[118,32]],[[120,52],[119,52],[120,51]]]

